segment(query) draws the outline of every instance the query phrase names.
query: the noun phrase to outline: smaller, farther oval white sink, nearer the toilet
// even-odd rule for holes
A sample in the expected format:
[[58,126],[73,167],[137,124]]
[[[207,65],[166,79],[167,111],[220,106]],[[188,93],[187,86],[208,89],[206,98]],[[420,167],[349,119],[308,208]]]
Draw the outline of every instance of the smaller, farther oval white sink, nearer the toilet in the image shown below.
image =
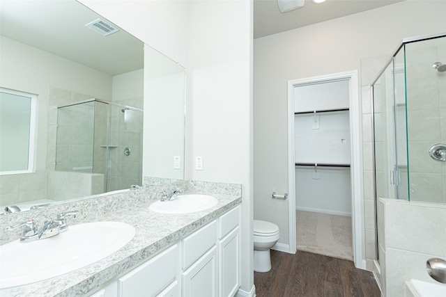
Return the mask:
[[203,194],[185,194],[175,200],[153,202],[148,209],[160,214],[190,214],[215,207],[217,198]]

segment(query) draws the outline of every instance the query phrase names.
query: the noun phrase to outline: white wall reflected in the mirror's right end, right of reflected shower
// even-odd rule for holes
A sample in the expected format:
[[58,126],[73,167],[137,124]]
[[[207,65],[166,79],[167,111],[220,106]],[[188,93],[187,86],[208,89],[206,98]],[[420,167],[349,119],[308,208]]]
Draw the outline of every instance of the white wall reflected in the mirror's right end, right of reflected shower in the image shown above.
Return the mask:
[[[144,81],[143,176],[183,179],[185,69],[145,47]],[[178,169],[174,156],[181,158]]]

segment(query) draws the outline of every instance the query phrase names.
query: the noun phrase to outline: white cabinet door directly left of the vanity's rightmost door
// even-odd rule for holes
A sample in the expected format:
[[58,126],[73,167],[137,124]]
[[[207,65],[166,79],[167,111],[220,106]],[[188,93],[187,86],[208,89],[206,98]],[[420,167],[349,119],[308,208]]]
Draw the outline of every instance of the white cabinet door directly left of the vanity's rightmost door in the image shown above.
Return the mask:
[[216,296],[217,247],[213,246],[183,273],[183,297]]

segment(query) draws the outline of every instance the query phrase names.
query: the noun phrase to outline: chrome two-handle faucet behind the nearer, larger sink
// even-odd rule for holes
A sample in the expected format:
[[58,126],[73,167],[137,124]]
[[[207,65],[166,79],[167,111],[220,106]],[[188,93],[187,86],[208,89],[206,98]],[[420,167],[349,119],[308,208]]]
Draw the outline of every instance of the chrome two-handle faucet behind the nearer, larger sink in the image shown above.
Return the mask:
[[13,230],[17,227],[24,227],[20,242],[31,242],[38,239],[46,239],[52,236],[56,236],[59,233],[66,232],[68,225],[66,216],[75,216],[79,211],[62,212],[57,215],[54,220],[46,220],[42,229],[38,231],[38,227],[34,220],[26,220],[26,222],[18,223],[8,227],[8,230]]

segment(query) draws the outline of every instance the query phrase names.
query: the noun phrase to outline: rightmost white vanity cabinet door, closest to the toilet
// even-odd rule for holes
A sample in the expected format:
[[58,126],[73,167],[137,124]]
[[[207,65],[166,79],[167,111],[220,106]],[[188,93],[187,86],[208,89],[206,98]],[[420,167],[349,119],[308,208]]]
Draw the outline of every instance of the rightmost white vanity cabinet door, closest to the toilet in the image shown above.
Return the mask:
[[219,242],[219,295],[234,296],[240,287],[240,227]]

